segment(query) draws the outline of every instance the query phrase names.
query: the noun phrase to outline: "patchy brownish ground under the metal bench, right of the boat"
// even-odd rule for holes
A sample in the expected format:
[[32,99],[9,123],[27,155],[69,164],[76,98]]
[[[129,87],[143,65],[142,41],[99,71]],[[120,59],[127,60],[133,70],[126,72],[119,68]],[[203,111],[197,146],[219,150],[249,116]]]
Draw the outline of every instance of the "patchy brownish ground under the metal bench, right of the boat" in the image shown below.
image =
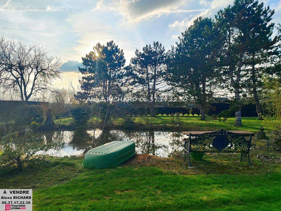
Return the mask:
[[187,162],[184,162],[183,156],[161,158],[150,154],[136,154],[122,166],[158,167],[167,172],[176,174],[268,174],[274,172],[279,163],[269,163],[257,158],[257,154],[251,154],[253,167],[249,167],[246,158],[239,162],[238,153],[206,153],[202,161],[191,160],[193,168],[189,168]]

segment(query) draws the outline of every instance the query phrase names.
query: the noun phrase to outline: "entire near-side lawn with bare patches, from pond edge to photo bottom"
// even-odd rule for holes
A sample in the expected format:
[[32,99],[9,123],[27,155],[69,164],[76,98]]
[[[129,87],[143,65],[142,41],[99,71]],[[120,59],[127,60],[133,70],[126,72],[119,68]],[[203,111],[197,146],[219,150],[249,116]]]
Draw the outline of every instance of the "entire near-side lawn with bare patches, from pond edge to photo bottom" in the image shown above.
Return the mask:
[[[265,159],[258,158],[263,155]],[[0,175],[1,188],[33,188],[33,210],[279,210],[280,152],[253,140],[253,168],[239,153],[137,155],[108,169],[84,169],[83,157],[50,158],[44,167]]]

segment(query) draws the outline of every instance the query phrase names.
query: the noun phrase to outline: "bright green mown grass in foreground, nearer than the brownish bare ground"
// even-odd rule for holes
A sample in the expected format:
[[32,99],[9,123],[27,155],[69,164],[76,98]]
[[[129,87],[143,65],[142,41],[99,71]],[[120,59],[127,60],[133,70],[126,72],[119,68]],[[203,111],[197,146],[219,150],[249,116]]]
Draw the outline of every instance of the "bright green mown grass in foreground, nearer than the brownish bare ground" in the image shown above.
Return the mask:
[[33,205],[52,211],[278,210],[280,180],[280,174],[186,176],[155,167],[117,167],[37,190]]

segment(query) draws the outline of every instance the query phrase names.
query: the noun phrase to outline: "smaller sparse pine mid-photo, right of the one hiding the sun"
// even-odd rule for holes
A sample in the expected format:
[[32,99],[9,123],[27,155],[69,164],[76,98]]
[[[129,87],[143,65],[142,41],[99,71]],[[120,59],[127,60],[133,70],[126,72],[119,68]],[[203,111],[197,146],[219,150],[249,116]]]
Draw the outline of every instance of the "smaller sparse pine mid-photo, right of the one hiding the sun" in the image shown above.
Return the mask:
[[145,96],[150,115],[155,116],[156,99],[167,87],[165,48],[160,42],[153,42],[143,47],[142,52],[136,50],[135,55],[127,67],[127,79],[130,86]]

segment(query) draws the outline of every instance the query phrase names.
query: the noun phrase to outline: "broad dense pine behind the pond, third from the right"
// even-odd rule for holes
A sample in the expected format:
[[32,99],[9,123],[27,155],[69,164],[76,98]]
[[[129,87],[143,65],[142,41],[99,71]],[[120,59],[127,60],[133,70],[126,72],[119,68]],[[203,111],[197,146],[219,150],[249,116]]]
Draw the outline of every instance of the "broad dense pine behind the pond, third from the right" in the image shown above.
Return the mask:
[[210,18],[197,18],[169,51],[169,81],[174,91],[190,96],[205,120],[205,113],[220,82],[219,42]]

